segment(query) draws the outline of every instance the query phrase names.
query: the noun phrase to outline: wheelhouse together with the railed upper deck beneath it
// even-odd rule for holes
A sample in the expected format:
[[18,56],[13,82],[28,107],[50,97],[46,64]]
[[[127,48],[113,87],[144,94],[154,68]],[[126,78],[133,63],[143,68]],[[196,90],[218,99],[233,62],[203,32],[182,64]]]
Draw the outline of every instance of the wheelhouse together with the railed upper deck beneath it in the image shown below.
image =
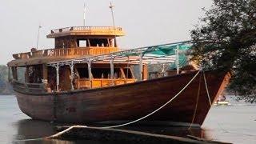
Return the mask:
[[71,26],[51,30],[47,38],[54,38],[54,49],[13,54],[8,66],[29,66],[118,51],[116,38],[124,36],[121,27]]

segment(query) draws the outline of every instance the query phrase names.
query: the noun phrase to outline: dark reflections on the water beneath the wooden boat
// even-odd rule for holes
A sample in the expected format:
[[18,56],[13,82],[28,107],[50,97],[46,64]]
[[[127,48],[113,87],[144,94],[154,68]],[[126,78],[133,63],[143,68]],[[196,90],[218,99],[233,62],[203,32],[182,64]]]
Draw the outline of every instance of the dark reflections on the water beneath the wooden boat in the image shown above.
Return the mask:
[[[85,140],[85,139],[62,139],[62,140],[34,140],[34,141],[19,141],[25,139],[36,139],[36,138],[45,138],[52,134],[57,133],[56,126],[68,126],[65,123],[57,122],[43,122],[32,119],[22,119],[13,124],[17,129],[17,134],[13,137],[12,143],[36,143],[36,144],[73,144],[73,143],[114,143],[114,142],[99,142],[94,140]],[[122,130],[137,130],[142,132],[154,133],[154,134],[166,134],[180,137],[187,137],[187,135],[193,135],[198,138],[207,138],[206,130],[202,130],[199,127],[192,127],[188,130],[188,127],[178,127],[178,126],[126,126],[122,127]]]

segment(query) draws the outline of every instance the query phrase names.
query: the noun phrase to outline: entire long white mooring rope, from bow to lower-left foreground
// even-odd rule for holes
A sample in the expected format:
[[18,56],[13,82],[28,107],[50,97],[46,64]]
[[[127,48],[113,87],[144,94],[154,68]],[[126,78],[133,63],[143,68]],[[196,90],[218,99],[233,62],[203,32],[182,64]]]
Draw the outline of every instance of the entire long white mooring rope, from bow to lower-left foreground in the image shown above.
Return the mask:
[[[180,91],[178,92],[178,94],[176,94],[173,98],[170,98],[170,100],[169,100],[168,102],[166,102],[165,104],[163,104],[163,105],[160,106],[157,110],[154,110],[154,111],[151,112],[150,114],[146,114],[144,117],[138,118],[138,119],[136,119],[136,120],[134,120],[134,121],[132,121],[132,122],[126,122],[126,123],[123,123],[123,124],[120,124],[120,125],[116,125],[116,126],[102,126],[102,127],[98,127],[98,128],[110,129],[110,128],[117,128],[117,127],[121,127],[121,126],[127,126],[127,125],[130,125],[130,124],[132,124],[132,123],[139,122],[139,121],[141,121],[141,120],[144,119],[144,118],[149,117],[150,115],[152,115],[152,114],[158,112],[158,110],[161,110],[163,107],[165,107],[166,105],[168,105],[168,104],[169,104],[170,102],[172,102],[175,98],[177,98],[178,95],[181,94],[182,91],[185,90],[186,87],[189,86],[190,83],[194,81],[194,78],[196,78],[200,72],[201,72],[201,70],[198,70],[197,74],[195,74],[194,77],[190,79],[190,82],[188,82],[188,83],[186,84],[186,86],[184,86],[184,87],[182,88],[182,90],[180,90]],[[16,140],[16,141],[14,141],[14,142],[26,142],[26,141],[36,141],[36,140],[43,140],[43,139],[55,138],[55,137],[58,137],[58,136],[61,135],[61,134],[64,134],[64,133],[68,132],[69,130],[71,130],[71,129],[73,129],[73,128],[77,128],[77,127],[85,128],[85,127],[87,127],[87,126],[70,126],[70,127],[67,128],[66,130],[62,130],[62,131],[58,132],[57,134],[51,135],[51,136],[46,137],[46,138],[24,139],[24,140]]]

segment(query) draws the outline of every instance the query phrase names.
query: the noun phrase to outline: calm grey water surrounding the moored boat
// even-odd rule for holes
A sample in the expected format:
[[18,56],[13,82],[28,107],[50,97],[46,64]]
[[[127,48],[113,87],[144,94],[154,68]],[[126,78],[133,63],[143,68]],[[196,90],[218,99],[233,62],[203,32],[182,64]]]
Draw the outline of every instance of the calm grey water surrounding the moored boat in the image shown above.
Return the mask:
[[[194,135],[222,142],[256,143],[256,106],[244,102],[231,102],[232,106],[214,106],[206,121],[203,130],[194,130]],[[36,107],[35,107],[36,108]],[[22,114],[14,96],[0,95],[0,143],[106,143],[95,141],[33,141],[20,142],[17,140],[43,138],[54,134],[54,126],[61,125],[51,122],[34,121]],[[169,128],[165,128],[165,131]],[[184,128],[172,127],[168,134],[186,136]]]

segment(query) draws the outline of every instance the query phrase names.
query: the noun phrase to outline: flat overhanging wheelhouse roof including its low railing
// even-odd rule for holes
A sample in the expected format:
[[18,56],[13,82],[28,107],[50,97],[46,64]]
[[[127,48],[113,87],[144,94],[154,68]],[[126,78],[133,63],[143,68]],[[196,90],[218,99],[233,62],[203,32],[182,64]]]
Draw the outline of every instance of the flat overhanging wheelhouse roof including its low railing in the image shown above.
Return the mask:
[[70,26],[50,30],[47,38],[58,38],[65,36],[109,36],[120,37],[125,33],[121,27],[113,26]]

